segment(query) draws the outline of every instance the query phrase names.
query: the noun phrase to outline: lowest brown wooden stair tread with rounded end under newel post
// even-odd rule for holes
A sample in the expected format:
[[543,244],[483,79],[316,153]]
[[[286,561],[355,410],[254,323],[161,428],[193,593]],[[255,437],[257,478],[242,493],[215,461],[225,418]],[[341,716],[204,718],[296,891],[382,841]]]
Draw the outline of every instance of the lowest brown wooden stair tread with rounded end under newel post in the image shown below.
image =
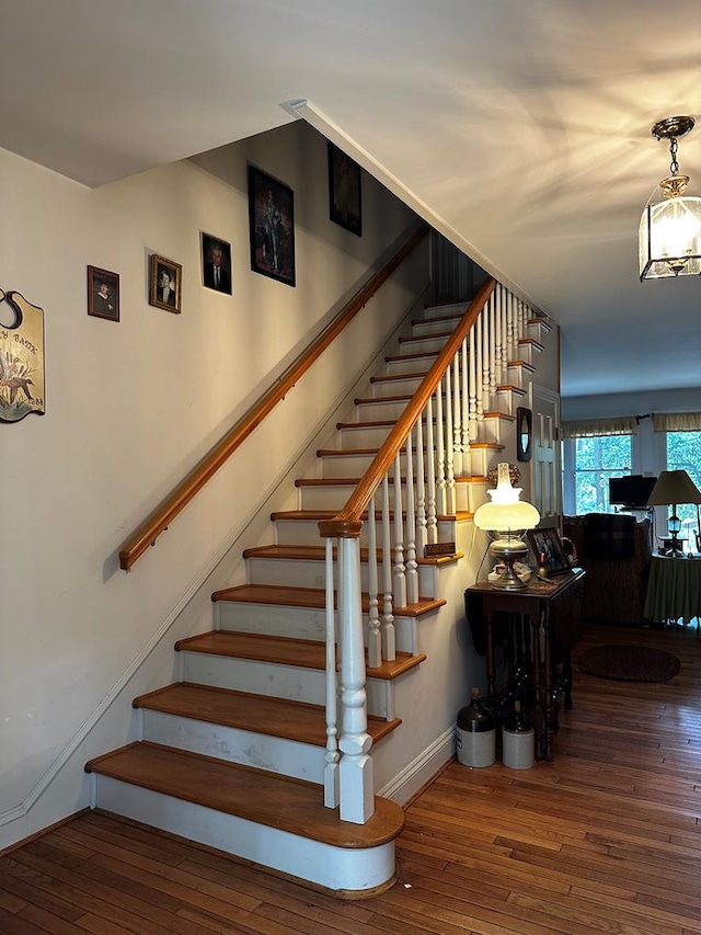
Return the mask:
[[353,824],[324,808],[323,790],[313,783],[148,741],[91,760],[85,771],[335,847],[377,847],[404,826],[404,812],[389,799],[376,797],[369,821]]

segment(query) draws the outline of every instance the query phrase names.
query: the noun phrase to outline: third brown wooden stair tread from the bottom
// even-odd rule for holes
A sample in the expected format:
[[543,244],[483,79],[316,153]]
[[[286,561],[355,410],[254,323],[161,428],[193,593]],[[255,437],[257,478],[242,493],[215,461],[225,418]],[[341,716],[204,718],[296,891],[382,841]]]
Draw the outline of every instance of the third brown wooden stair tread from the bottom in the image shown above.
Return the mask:
[[[269,634],[238,632],[237,630],[209,630],[194,637],[177,640],[176,650],[205,652],[209,655],[228,655],[235,659],[254,659],[280,665],[297,665],[301,669],[326,668],[326,646],[321,640],[289,639]],[[411,655],[398,652],[392,662],[383,662],[377,669],[368,669],[376,679],[392,680],[402,675],[426,659],[424,653]]]

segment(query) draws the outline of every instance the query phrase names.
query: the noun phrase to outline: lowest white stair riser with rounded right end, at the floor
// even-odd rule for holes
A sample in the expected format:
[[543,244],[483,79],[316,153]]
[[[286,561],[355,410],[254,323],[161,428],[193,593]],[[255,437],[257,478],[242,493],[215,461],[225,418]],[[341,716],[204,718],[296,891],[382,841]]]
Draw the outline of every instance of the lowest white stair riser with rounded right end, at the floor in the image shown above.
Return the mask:
[[[329,890],[361,893],[394,875],[394,842],[368,850],[334,847],[107,776],[96,780],[96,801],[106,811]],[[319,795],[323,799],[321,789]]]

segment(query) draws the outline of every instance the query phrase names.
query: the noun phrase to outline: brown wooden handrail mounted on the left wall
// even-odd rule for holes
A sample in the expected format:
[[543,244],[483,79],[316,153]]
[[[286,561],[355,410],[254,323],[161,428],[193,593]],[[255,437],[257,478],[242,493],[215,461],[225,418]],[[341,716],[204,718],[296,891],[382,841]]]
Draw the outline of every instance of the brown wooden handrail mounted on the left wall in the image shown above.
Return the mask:
[[422,224],[404,243],[392,254],[387,263],[361,286],[355,296],[346,303],[338,315],[294,361],[275,384],[255,402],[251,409],[233,425],[221,441],[202,459],[193,471],[161,505],[139,526],[119,551],[119,568],[128,571],[143,555],[149,546],[168,529],[177,514],[202,490],[207,481],[219,470],[226,460],[263,422],[277,403],[284,399],[296,383],[307,373],[326,347],[337,338],[344,328],[367,305],[380,286],[394,270],[413,252],[428,232],[429,227]]

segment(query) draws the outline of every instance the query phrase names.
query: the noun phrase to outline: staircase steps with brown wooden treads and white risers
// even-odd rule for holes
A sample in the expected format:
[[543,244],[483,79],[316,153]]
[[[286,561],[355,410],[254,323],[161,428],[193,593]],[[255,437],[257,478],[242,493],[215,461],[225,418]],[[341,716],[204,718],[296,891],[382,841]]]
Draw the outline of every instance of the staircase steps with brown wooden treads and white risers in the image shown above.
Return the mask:
[[[338,423],[337,447],[318,451],[317,476],[296,481],[299,509],[274,513],[269,545],[244,551],[249,583],[212,594],[212,630],[176,642],[181,681],[134,700],[142,739],[87,764],[99,808],[336,894],[358,898],[394,882],[402,809],[376,796],[371,817],[354,823],[324,806],[335,728],[325,716],[326,555],[319,523],[344,506],[463,311],[464,304],[427,309],[412,322],[400,353],[386,358],[352,418]],[[522,358],[504,362],[508,381],[495,383],[494,408],[482,407],[480,436],[470,445],[480,470],[466,471],[463,464],[457,509],[436,517],[439,541],[457,540],[456,524],[485,499],[489,466],[503,459],[506,440],[507,457],[514,448],[514,400],[525,394],[538,343],[524,338]],[[377,514],[376,525],[384,518]],[[368,526],[366,516],[366,638]],[[418,598],[393,607],[394,658],[390,652],[369,668],[366,651],[366,730],[374,748],[405,729],[394,685],[425,661],[420,627],[446,603],[441,568],[461,557],[417,557]]]

